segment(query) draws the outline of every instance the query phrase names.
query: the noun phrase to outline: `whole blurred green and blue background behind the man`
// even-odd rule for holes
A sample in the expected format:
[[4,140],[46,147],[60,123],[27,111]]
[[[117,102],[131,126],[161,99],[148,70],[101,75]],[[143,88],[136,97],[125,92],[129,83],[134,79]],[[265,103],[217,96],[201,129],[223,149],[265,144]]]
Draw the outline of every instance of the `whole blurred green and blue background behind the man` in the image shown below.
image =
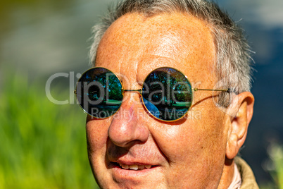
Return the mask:
[[[77,74],[89,68],[92,25],[111,2],[1,1],[0,188],[97,188],[87,160],[85,114],[70,102]],[[256,52],[256,104],[241,157],[260,188],[283,188],[283,1],[218,4],[244,28]],[[56,73],[65,75],[49,83],[50,95],[68,104],[46,96],[47,80]]]

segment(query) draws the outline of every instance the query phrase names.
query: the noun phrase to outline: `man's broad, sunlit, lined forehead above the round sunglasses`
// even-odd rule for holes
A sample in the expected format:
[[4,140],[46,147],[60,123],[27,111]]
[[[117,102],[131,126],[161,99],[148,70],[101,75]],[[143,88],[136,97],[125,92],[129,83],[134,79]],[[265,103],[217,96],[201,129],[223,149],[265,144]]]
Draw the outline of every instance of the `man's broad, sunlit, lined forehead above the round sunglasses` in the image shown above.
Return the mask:
[[116,73],[144,78],[161,66],[180,69],[186,75],[215,73],[215,46],[208,25],[181,13],[146,18],[129,13],[106,30],[96,56],[96,66]]

